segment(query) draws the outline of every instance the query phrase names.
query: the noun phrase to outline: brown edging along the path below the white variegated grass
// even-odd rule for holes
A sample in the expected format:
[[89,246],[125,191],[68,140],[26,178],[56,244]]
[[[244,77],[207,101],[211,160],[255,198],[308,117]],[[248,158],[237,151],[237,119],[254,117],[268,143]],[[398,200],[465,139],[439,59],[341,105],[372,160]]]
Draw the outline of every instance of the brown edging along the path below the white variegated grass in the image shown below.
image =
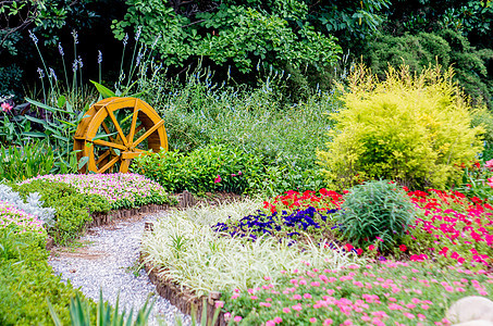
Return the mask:
[[[189,289],[159,276],[159,271],[162,269],[156,268],[150,263],[144,263],[144,258],[145,255],[140,252],[139,261],[143,263],[150,281],[156,286],[159,296],[170,301],[171,304],[175,305],[182,313],[187,315],[192,313],[192,306],[195,305],[197,309],[197,323],[200,323],[202,300],[206,299],[207,322],[212,322],[215,312],[215,303],[220,301],[221,298],[220,292],[210,292],[208,297],[197,297]],[[224,312],[219,313],[218,321],[212,326],[227,326],[227,323],[224,319]]]

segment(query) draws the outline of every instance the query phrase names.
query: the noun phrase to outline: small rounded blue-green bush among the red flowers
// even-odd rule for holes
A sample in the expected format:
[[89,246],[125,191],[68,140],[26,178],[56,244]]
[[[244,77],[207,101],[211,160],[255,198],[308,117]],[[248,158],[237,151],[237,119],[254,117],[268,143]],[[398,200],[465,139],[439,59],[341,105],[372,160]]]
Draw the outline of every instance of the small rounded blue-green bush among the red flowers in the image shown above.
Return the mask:
[[336,218],[348,240],[360,244],[380,237],[379,243],[391,246],[405,235],[415,216],[407,193],[394,183],[379,180],[353,187]]

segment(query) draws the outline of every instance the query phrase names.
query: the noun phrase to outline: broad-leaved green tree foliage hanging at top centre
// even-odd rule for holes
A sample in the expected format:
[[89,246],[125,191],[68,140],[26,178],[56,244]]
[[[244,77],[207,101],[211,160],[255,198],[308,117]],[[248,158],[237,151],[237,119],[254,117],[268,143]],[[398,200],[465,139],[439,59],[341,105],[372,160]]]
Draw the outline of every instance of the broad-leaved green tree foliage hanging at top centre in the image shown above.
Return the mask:
[[[149,46],[161,36],[156,48],[168,65],[207,57],[219,65],[234,64],[241,72],[251,71],[259,61],[322,68],[333,65],[342,52],[329,32],[346,23],[324,15],[321,10],[330,8],[316,1],[170,2],[127,0],[125,20],[114,22],[115,36],[123,39],[127,27],[141,26]],[[322,25],[323,29],[316,28]]]

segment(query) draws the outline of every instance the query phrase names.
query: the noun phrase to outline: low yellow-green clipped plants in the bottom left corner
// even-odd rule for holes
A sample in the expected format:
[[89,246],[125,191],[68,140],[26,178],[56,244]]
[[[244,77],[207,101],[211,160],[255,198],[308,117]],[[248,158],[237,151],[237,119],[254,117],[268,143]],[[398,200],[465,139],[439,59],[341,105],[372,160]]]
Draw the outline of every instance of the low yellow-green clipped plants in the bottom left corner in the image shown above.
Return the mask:
[[67,325],[69,304],[78,291],[53,275],[47,262],[46,236],[20,234],[11,225],[0,228],[0,324],[50,324],[48,298]]

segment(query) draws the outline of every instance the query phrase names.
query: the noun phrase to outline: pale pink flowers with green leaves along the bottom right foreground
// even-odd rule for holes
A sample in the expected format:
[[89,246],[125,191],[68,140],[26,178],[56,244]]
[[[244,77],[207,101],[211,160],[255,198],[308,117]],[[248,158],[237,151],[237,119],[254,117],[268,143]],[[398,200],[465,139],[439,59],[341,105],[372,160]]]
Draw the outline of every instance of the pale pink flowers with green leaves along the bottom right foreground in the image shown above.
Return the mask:
[[226,315],[242,325],[451,325],[453,302],[493,291],[484,271],[414,262],[284,273],[276,283],[266,277],[257,288],[226,293]]

